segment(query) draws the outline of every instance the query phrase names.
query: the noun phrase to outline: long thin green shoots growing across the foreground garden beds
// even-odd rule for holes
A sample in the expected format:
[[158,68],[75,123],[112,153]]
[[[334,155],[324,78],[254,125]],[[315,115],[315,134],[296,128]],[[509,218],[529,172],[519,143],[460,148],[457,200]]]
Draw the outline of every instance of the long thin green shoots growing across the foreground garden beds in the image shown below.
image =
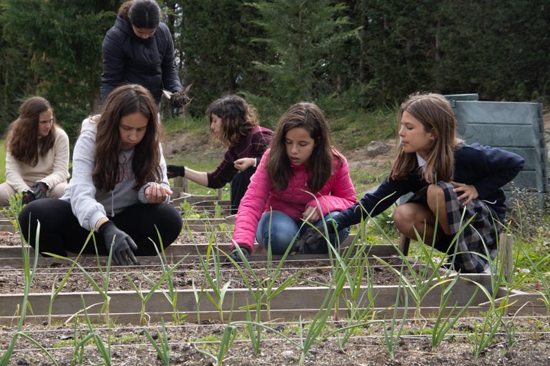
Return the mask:
[[[17,217],[17,212],[12,212],[12,217]],[[367,221],[367,220],[366,220]],[[364,230],[365,222],[360,225],[360,230]],[[468,225],[469,222],[465,222]],[[17,225],[17,222],[16,222]],[[328,238],[327,226],[319,228],[324,231],[325,237]],[[38,227],[40,231],[40,225]],[[190,237],[192,237],[190,233]],[[38,238],[38,234],[36,236]],[[490,269],[490,284],[489,286],[475,282],[472,279],[465,279],[472,282],[474,288],[469,301],[465,306],[457,306],[457,304],[451,304],[452,290],[456,286],[457,282],[461,278],[454,275],[451,271],[443,270],[443,261],[438,260],[433,253],[431,245],[420,245],[422,258],[426,260],[425,266],[413,266],[407,260],[406,256],[401,253],[399,248],[394,245],[395,250],[401,257],[401,264],[399,266],[393,266],[388,263],[384,258],[377,257],[375,255],[369,255],[369,249],[371,246],[358,244],[359,236],[356,236],[354,242],[347,248],[339,249],[338,245],[333,247],[327,240],[329,246],[328,258],[331,268],[331,280],[328,284],[321,284],[311,281],[309,279],[301,278],[300,275],[303,271],[297,271],[294,275],[285,279],[284,282],[276,286],[276,279],[283,268],[283,264],[287,256],[289,255],[292,246],[289,246],[286,253],[282,255],[279,260],[274,260],[270,247],[267,250],[267,261],[265,262],[265,275],[258,275],[250,262],[243,260],[243,263],[236,263],[228,253],[225,253],[217,247],[214,231],[210,236],[210,242],[208,243],[208,250],[206,254],[201,255],[199,249],[197,249],[197,258],[199,264],[203,270],[203,282],[201,284],[195,284],[192,282],[192,290],[196,301],[197,321],[201,323],[201,299],[203,296],[208,297],[208,300],[219,311],[219,320],[225,324],[223,335],[219,343],[217,343],[217,351],[212,352],[212,348],[208,350],[199,349],[197,345],[197,351],[203,355],[212,358],[212,361],[221,365],[225,359],[230,347],[232,347],[233,341],[236,338],[239,331],[245,332],[250,340],[252,350],[255,355],[260,354],[262,339],[265,334],[274,334],[281,339],[285,339],[290,344],[294,345],[300,352],[300,365],[305,362],[305,357],[309,354],[312,347],[322,343],[327,339],[333,339],[336,337],[340,349],[343,349],[344,345],[351,339],[354,331],[357,328],[368,327],[369,325],[379,324],[383,325],[382,334],[380,334],[380,344],[384,347],[384,350],[388,354],[388,357],[393,360],[395,352],[399,347],[399,339],[404,332],[404,325],[408,320],[409,309],[414,309],[414,319],[421,317],[421,304],[428,294],[437,290],[439,294],[439,310],[435,314],[435,321],[430,334],[430,341],[433,350],[441,344],[445,339],[446,334],[452,329],[459,319],[465,316],[467,309],[474,303],[474,299],[478,294],[485,295],[489,306],[485,312],[485,317],[481,323],[476,323],[470,334],[467,336],[467,341],[472,347],[472,353],[474,357],[478,357],[489,345],[492,344],[495,334],[499,329],[505,329],[508,345],[512,347],[516,341],[516,334],[514,323],[511,321],[505,321],[503,316],[507,314],[511,305],[508,297],[515,289],[522,289],[521,282],[509,283],[505,276],[505,266],[503,264],[503,258],[487,258],[489,261]],[[458,235],[457,235],[458,237]],[[159,235],[160,238],[160,235]],[[19,337],[27,339],[34,343],[36,347],[44,352],[54,363],[57,365],[54,356],[50,354],[39,342],[32,339],[31,336],[22,331],[23,323],[25,321],[25,315],[28,311],[32,312],[32,308],[28,301],[28,294],[30,293],[30,287],[33,281],[34,273],[36,272],[37,261],[39,258],[39,242],[37,240],[34,248],[34,256],[31,253],[30,246],[23,241],[22,252],[25,263],[25,288],[23,294],[23,300],[19,304],[17,316],[17,331],[14,332],[12,341],[5,350],[1,359],[0,365],[7,365],[15,350],[17,340]],[[419,242],[424,242],[423,238],[417,238]],[[294,238],[296,240],[296,238]],[[456,238],[455,238],[456,240]],[[87,238],[85,245],[94,245],[96,247],[96,241],[94,232],[92,231]],[[454,246],[456,247],[456,246]],[[237,247],[239,248],[239,247]],[[83,248],[84,249],[84,248]],[[456,251],[456,249],[455,249]],[[522,251],[524,251],[522,249]],[[96,247],[97,252],[97,247]],[[242,255],[241,250],[239,252]],[[525,251],[524,251],[525,252]],[[52,257],[66,260],[70,263],[69,270],[61,282],[54,281],[52,284],[52,292],[50,297],[50,308],[48,315],[48,323],[52,323],[52,306],[56,296],[61,293],[63,286],[67,279],[71,275],[75,268],[81,271],[94,290],[102,298],[102,302],[98,304],[85,304],[84,297],[82,297],[82,309],[67,319],[66,323],[74,321],[74,354],[72,363],[82,364],[85,362],[84,347],[85,345],[92,343],[97,347],[99,354],[102,357],[102,361],[105,365],[111,365],[111,327],[114,327],[111,319],[109,318],[109,273],[111,271],[111,255],[107,260],[107,264],[102,266],[99,255],[97,258],[97,265],[101,274],[101,281],[96,281],[83,266],[80,266],[78,259],[80,258],[82,251],[76,256],[76,258],[65,258],[53,253],[44,253],[45,255],[51,255]],[[451,253],[456,256],[459,253]],[[164,284],[162,293],[172,306],[171,321],[175,324],[179,324],[185,321],[186,312],[181,311],[177,307],[178,291],[175,288],[173,275],[181,263],[186,257],[179,259],[177,262],[170,264],[166,259],[164,253],[164,247],[162,242],[160,248],[157,248],[157,255],[160,259],[162,268],[162,277],[153,281],[144,274],[146,281],[151,284],[149,290],[143,291],[140,285],[135,284],[133,279],[129,275],[126,275],[129,282],[131,282],[137,297],[141,301],[140,310],[140,326],[148,325],[149,319],[146,314],[146,304],[151,299],[155,291]],[[33,258],[34,257],[34,258]],[[244,258],[244,257],[243,257]],[[374,286],[373,279],[375,277],[374,269],[369,258],[374,258],[378,263],[391,268],[391,271],[395,273],[398,279],[397,295],[395,296],[395,304],[384,309],[375,307],[375,300],[377,297],[377,290]],[[529,256],[527,256],[529,258]],[[549,260],[550,255],[542,258],[538,262],[531,261],[531,268],[537,274],[542,284],[542,289],[539,290],[539,295],[545,306],[547,307],[547,316],[550,317],[550,284],[547,282],[544,274],[538,270],[538,266],[542,261]],[[228,301],[228,290],[230,289],[230,281],[225,281],[223,278],[223,266],[224,262],[230,261],[230,265],[234,266],[248,288],[250,296],[247,306],[239,308],[241,311],[245,311],[246,320],[233,321],[233,301],[228,309],[226,301]],[[408,273],[405,276],[404,273]],[[300,319],[296,322],[298,337],[292,337],[287,333],[278,330],[272,326],[272,301],[278,295],[281,295],[286,288],[289,288],[296,282],[307,281],[314,286],[323,286],[326,288],[326,295],[322,300],[322,304],[318,307],[318,311],[311,317],[311,319]],[[58,286],[56,286],[58,283]],[[366,283],[366,285],[364,285]],[[502,297],[499,294],[499,289],[505,288],[506,295]],[[435,292],[435,291],[434,291]],[[501,292],[500,292],[501,293]],[[499,297],[498,297],[499,296]],[[234,300],[234,299],[232,299]],[[100,306],[100,317],[103,319],[97,319],[95,324],[103,321],[109,326],[109,332],[107,332],[106,338],[100,336],[100,332],[94,328],[94,321],[91,320],[88,310],[92,307]],[[340,310],[346,310],[347,316],[344,319],[340,319]],[[267,321],[263,321],[267,317]],[[343,321],[344,326],[333,329],[327,326],[327,323],[331,319]],[[84,321],[87,325],[87,331],[80,328],[80,322]],[[170,363],[170,344],[166,335],[166,325],[164,319],[162,320],[162,333],[151,335],[146,328],[144,332],[154,347],[160,360],[164,365]]]

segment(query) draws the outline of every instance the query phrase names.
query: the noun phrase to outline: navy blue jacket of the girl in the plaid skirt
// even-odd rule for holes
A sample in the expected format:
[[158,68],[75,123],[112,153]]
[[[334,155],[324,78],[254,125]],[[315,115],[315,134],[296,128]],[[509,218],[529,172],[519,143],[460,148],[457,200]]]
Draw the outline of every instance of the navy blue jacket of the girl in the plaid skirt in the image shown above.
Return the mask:
[[[506,196],[502,187],[523,169],[524,159],[506,150],[482,146],[480,144],[458,146],[454,151],[454,174],[452,180],[476,187],[479,199],[486,201],[494,209],[500,220],[506,214]],[[340,212],[334,220],[338,227],[358,224],[362,218],[376,216],[393,205],[399,197],[410,192],[416,193],[428,183],[418,174],[417,169],[401,180],[388,179],[367,193],[361,201]],[[364,207],[364,210],[361,208]]]

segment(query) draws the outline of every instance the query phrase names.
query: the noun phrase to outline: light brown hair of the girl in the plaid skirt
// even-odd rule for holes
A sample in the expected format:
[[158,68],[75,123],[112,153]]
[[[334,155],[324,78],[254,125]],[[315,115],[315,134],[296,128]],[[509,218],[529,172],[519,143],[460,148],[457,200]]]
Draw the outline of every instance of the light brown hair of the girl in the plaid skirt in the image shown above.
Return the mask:
[[[399,108],[398,128],[405,111],[418,119],[426,132],[434,135],[421,175],[430,182],[450,181],[454,172],[454,150],[463,140],[456,137],[456,118],[449,101],[443,95],[435,93],[410,95]],[[416,154],[404,152],[399,146],[390,175],[393,179],[404,179],[416,167]]]

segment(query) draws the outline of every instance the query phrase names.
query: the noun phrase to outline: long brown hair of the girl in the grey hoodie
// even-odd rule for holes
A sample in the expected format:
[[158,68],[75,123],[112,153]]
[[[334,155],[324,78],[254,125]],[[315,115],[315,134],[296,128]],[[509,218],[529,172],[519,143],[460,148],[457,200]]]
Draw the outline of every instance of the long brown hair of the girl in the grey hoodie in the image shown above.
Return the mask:
[[111,91],[101,109],[96,134],[96,156],[92,179],[98,190],[113,190],[119,178],[119,157],[122,140],[118,126],[126,115],[141,113],[147,118],[145,135],[134,147],[132,170],[138,190],[147,182],[162,181],[159,142],[162,128],[157,118],[157,105],[151,93],[144,87],[131,84]]

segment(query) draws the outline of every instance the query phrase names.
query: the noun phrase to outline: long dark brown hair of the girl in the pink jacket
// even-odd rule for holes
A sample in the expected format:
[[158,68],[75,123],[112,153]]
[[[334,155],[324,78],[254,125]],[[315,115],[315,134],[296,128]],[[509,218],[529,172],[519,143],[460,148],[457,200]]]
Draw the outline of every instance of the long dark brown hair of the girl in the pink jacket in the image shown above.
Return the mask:
[[274,132],[270,155],[265,163],[267,175],[272,180],[276,190],[286,190],[292,168],[287,155],[286,135],[292,128],[301,127],[309,132],[315,146],[307,170],[309,174],[307,186],[311,192],[318,192],[325,186],[333,170],[333,157],[336,155],[342,162],[338,150],[333,146],[329,134],[329,125],[322,111],[313,103],[300,102],[294,104],[281,116]]

